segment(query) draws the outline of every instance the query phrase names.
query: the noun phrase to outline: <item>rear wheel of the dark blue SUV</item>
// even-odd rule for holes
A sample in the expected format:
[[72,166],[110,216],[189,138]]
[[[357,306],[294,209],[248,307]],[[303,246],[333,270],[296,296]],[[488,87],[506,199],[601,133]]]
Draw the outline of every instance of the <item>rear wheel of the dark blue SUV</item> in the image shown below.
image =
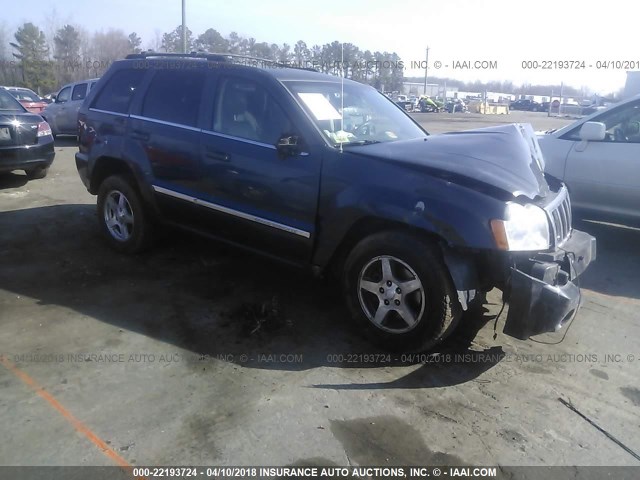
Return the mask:
[[103,237],[118,252],[139,253],[152,243],[150,215],[129,176],[113,175],[100,184],[98,222]]

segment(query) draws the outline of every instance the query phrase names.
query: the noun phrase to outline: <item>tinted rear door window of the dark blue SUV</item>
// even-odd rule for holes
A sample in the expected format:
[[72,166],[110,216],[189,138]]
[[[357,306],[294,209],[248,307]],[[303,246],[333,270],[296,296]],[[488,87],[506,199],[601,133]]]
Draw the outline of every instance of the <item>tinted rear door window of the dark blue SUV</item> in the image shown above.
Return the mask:
[[195,127],[202,103],[204,70],[159,70],[151,80],[142,116]]

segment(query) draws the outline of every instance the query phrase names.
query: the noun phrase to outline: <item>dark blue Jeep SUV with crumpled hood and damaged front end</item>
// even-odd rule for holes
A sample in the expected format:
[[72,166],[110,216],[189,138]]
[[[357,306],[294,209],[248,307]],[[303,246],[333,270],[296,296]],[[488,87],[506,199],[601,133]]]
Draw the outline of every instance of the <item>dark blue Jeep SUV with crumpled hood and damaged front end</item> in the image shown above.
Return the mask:
[[76,163],[116,250],[164,224],[337,274],[394,350],[432,348],[494,287],[515,338],[574,317],[595,238],[529,125],[429,136],[369,86],[251,63],[132,55],[91,90]]

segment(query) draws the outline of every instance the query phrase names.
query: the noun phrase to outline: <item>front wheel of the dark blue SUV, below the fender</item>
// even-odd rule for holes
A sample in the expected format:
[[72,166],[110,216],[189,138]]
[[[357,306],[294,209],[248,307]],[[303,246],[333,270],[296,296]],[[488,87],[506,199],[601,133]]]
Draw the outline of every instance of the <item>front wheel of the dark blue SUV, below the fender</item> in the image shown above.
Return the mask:
[[[381,262],[377,271],[382,273],[384,258],[388,258],[392,265],[392,259],[399,261],[395,264],[396,270],[393,275],[396,279],[391,283],[389,290],[385,289],[384,294],[378,295],[380,290],[373,293],[360,288],[361,275],[362,279],[366,280],[367,275],[375,273],[376,261]],[[402,275],[408,275],[403,282],[398,279]],[[401,289],[397,288],[408,285],[405,282],[414,276],[421,282],[422,291],[404,297],[389,297],[388,308],[391,310],[383,315],[380,324],[374,324],[370,317],[375,305],[380,308],[383,305],[382,298],[391,295],[392,290],[401,293]],[[371,278],[370,281],[371,284],[367,283],[368,286],[377,285],[382,289],[389,286],[382,276],[380,279]],[[391,351],[420,352],[432,349],[453,332],[462,315],[451,276],[437,246],[406,233],[378,233],[356,245],[345,262],[343,290],[349,310],[356,322],[364,327],[365,334],[382,348]],[[410,295],[413,295],[413,298]],[[402,320],[398,311],[394,310],[394,304],[401,305],[398,307],[401,309],[409,307],[415,314],[413,326]],[[404,311],[406,313],[406,310]],[[403,328],[409,329],[403,331]]]

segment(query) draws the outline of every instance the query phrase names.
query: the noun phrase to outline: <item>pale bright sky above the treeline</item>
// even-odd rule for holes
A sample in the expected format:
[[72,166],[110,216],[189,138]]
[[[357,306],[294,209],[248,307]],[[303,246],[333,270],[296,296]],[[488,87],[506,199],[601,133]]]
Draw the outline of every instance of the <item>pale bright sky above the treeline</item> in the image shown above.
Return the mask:
[[[215,28],[224,36],[235,31],[268,43],[350,42],[362,50],[397,52],[405,76],[424,77],[422,64],[417,69],[412,65],[425,60],[427,46],[429,76],[464,81],[564,82],[606,94],[624,86],[626,70],[640,69],[640,51],[631,41],[638,9],[628,1],[608,0],[597,7],[575,0],[186,0],[186,4],[187,26],[196,36]],[[0,6],[0,22],[10,32],[28,21],[45,32],[64,23],[89,31],[117,28],[138,33],[143,47],[151,47],[156,37],[182,21],[182,0],[0,0]],[[482,68],[477,61],[494,67]],[[598,68],[598,62],[611,61],[629,64]],[[584,68],[561,68],[571,62]]]

